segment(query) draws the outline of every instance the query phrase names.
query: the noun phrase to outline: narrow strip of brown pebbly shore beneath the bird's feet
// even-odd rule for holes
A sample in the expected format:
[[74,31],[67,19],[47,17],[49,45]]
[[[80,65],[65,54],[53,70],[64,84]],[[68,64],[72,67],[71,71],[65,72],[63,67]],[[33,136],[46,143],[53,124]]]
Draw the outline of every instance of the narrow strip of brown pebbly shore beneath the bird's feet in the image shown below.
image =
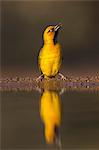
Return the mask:
[[99,76],[68,76],[66,80],[59,78],[43,79],[36,82],[32,77],[0,78],[0,91],[39,91],[42,90],[96,90],[99,91]]

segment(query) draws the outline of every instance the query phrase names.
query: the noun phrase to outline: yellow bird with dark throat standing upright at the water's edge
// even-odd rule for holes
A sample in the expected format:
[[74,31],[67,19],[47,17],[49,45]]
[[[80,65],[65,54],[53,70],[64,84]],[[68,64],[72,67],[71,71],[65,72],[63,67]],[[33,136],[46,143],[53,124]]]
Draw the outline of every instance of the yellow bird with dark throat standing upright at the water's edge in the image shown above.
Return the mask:
[[[38,56],[38,64],[42,74],[36,79],[55,77],[59,73],[62,62],[61,46],[56,42],[56,35],[61,27],[61,23],[55,26],[48,26],[43,33],[44,45]],[[61,79],[66,79],[59,73]]]

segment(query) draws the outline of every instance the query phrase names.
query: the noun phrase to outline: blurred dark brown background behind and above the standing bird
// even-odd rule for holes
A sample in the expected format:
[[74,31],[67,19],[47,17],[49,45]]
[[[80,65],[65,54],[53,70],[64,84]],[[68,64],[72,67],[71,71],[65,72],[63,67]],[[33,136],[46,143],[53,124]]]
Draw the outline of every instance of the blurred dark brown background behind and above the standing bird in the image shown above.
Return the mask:
[[99,71],[99,2],[2,1],[2,73],[39,74],[37,56],[47,25],[62,23],[63,72]]

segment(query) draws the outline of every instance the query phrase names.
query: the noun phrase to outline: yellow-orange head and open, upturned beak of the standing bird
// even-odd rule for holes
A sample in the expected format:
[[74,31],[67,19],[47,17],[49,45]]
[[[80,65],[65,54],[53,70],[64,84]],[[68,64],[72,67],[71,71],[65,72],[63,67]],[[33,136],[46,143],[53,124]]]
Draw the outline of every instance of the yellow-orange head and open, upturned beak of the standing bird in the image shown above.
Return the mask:
[[43,34],[44,43],[50,43],[54,40],[55,35],[57,34],[58,29],[62,26],[61,23],[55,25],[55,26],[48,26]]

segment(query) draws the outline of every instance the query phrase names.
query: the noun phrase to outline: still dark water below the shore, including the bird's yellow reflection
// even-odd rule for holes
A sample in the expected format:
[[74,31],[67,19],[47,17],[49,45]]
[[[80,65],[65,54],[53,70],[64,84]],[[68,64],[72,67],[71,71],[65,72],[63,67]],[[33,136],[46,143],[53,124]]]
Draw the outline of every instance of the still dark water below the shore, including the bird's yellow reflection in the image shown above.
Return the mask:
[[99,91],[1,92],[2,149],[99,149]]

